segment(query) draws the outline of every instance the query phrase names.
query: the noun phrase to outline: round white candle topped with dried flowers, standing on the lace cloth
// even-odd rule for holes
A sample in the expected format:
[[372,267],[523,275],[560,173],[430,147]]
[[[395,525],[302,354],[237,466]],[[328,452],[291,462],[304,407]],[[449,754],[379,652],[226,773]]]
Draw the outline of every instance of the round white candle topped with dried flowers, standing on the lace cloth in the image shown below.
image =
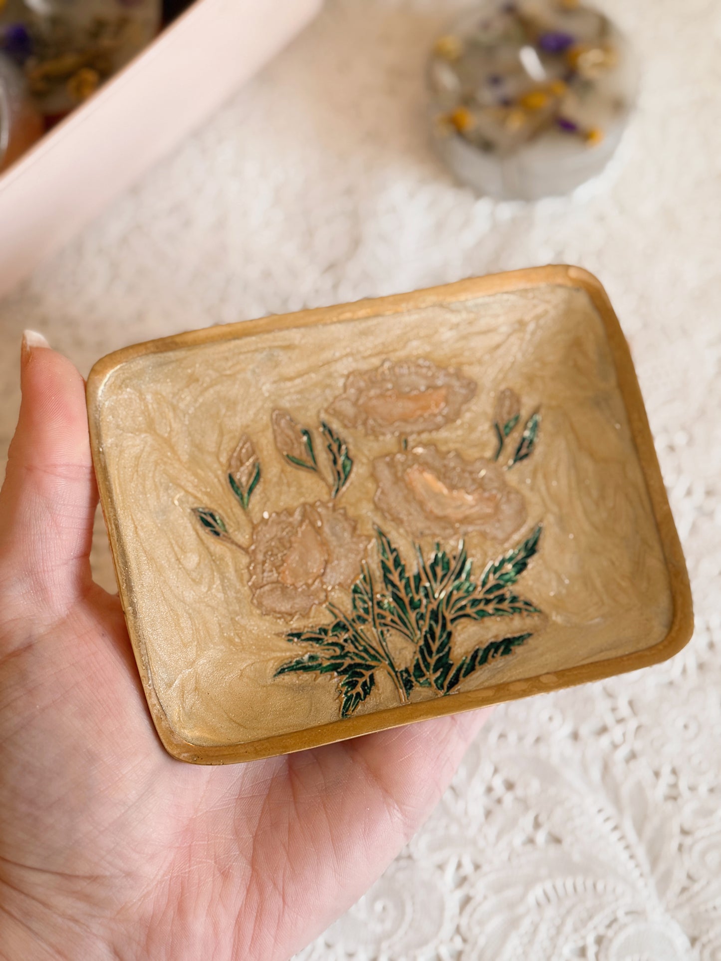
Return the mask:
[[634,101],[624,38],[565,0],[486,2],[435,42],[437,149],[459,179],[499,198],[565,193],[599,173]]

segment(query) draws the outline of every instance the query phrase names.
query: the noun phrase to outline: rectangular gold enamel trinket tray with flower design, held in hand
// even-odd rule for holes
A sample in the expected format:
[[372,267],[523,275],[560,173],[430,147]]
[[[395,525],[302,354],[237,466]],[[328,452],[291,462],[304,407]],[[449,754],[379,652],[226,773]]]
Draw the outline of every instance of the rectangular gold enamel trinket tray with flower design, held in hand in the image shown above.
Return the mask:
[[607,678],[690,636],[632,360],[583,270],[140,344],[87,401],[137,665],[182,760]]

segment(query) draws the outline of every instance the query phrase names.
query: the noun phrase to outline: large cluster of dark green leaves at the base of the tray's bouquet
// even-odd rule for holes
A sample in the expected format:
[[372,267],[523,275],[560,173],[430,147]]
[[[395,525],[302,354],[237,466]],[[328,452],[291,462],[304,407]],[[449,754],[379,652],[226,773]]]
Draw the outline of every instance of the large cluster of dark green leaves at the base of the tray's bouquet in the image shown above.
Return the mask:
[[[538,526],[519,545],[489,563],[478,582],[472,577],[473,565],[462,542],[450,553],[436,545],[428,557],[416,548],[417,566],[410,576],[398,549],[377,529],[382,589],[375,588],[371,568],[363,563],[351,591],[350,614],[329,604],[334,617],[331,625],[286,634],[288,641],[312,644],[320,650],[287,662],[277,675],[334,674],[343,717],[368,697],[378,669],[393,680],[402,703],[416,687],[450,694],[461,680],[490,660],[508,656],[533,636],[531,632],[512,634],[477,647],[458,662],[453,657],[454,626],[459,621],[540,613],[535,604],[511,589],[536,554],[540,533]],[[393,661],[387,643],[392,632],[414,646],[410,668],[398,670]]]

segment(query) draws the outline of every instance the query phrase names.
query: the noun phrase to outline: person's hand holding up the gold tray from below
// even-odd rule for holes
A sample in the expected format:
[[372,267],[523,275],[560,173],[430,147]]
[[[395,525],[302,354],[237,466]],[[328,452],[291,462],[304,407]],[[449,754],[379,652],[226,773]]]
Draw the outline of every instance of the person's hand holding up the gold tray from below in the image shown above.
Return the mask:
[[83,379],[37,334],[0,493],[0,956],[286,959],[429,814],[483,712],[235,767],[173,760],[90,575]]

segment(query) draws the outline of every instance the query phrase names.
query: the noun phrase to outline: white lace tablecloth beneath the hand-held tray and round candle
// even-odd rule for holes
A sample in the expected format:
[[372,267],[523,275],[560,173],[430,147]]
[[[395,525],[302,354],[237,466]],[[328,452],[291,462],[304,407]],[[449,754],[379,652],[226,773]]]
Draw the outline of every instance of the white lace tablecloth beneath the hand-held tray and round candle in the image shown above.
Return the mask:
[[[514,267],[578,263],[630,339],[697,629],[656,668],[498,708],[427,825],[300,957],[721,959],[721,8],[606,0],[642,61],[601,181],[477,199],[429,149],[422,70],[458,6],[328,0],[177,153],[0,305],[84,372],[136,340]],[[102,539],[102,538],[101,538]],[[98,568],[109,582],[107,554]]]

